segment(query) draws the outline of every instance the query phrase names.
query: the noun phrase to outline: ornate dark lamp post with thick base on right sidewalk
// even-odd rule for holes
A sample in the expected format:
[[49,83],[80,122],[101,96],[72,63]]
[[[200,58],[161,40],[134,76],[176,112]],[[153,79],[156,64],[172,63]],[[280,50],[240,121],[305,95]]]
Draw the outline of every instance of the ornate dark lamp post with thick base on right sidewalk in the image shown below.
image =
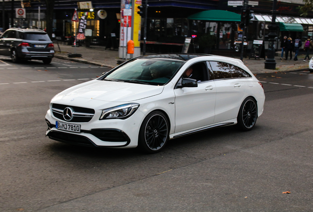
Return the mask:
[[272,10],[272,22],[268,26],[268,29],[270,32],[268,33],[268,50],[267,50],[267,57],[264,62],[264,68],[265,69],[276,69],[276,60],[275,60],[275,37],[277,37],[276,31],[277,31],[277,25],[275,23],[276,21],[276,3],[277,0],[273,1],[273,10]]

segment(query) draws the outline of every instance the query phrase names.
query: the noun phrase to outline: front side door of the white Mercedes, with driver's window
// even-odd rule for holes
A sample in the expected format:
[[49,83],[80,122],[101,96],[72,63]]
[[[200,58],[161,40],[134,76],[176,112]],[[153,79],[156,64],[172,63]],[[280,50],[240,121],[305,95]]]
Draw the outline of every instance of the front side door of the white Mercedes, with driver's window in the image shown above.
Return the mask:
[[198,86],[174,89],[175,133],[200,128],[214,122],[216,87],[213,76],[208,76],[206,62],[192,66],[193,72],[189,78],[196,79]]

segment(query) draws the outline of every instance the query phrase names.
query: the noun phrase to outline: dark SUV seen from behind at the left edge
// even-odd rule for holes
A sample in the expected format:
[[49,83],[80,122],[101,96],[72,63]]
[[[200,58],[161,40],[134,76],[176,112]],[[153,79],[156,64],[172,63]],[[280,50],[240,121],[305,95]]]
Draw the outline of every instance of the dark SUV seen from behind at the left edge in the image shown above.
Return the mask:
[[13,62],[36,59],[49,64],[54,45],[41,29],[9,28],[0,37],[0,55],[10,56]]

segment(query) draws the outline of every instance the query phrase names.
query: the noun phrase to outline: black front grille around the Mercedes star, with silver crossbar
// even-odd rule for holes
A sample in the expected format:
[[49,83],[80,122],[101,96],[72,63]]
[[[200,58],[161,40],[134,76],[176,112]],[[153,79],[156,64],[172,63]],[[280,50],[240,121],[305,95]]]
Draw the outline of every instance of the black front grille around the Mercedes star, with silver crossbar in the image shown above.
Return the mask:
[[[66,107],[70,107],[73,111],[73,118],[69,121],[63,117],[63,111]],[[67,122],[89,122],[94,117],[94,109],[60,104],[52,104],[52,113],[54,117]]]

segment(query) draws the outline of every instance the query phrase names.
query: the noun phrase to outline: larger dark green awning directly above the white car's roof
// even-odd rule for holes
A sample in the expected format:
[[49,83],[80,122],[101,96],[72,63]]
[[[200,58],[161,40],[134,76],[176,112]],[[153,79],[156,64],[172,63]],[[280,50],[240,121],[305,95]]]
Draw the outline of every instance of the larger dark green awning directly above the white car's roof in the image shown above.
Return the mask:
[[191,20],[240,22],[240,14],[225,10],[206,10],[188,16]]

